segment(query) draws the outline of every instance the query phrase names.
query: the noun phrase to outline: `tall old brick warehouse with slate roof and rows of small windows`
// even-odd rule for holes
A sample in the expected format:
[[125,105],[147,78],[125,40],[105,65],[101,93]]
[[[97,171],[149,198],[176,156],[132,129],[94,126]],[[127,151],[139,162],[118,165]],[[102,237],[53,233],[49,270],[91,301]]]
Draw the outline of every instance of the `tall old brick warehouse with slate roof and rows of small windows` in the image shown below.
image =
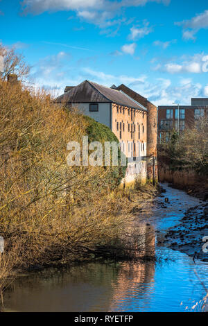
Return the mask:
[[157,180],[157,108],[146,98],[125,85],[105,87],[85,80],[67,86],[55,102],[78,108],[114,132],[121,151],[132,158],[123,182],[138,176],[142,181]]

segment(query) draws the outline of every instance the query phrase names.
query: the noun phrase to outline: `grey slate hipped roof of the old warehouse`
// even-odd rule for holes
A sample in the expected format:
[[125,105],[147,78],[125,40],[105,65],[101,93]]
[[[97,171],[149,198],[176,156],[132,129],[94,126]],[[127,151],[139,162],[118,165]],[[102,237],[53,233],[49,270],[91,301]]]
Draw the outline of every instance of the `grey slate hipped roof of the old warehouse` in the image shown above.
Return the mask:
[[56,103],[116,103],[129,108],[145,111],[146,109],[116,89],[105,87],[85,80],[55,99]]

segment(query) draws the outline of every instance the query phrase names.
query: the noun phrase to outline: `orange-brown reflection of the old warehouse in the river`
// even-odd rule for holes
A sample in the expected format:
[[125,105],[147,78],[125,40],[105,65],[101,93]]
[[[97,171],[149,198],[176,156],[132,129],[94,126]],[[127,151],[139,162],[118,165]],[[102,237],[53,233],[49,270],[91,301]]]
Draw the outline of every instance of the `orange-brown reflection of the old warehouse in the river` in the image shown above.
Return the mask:
[[154,291],[155,230],[151,225],[139,225],[139,230],[137,257],[145,255],[148,260],[123,262],[116,283],[113,284],[114,291],[109,311],[131,311],[132,308],[139,311],[140,304],[147,305]]

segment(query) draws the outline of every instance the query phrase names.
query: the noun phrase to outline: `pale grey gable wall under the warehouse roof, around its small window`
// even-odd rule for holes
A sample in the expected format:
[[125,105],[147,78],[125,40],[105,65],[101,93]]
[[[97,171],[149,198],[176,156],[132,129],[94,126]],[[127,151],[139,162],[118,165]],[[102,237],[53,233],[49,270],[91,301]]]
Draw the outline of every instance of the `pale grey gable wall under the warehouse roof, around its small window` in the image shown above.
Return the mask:
[[78,108],[83,114],[111,128],[111,103],[98,103],[98,112],[90,112],[89,103],[74,103],[72,107]]

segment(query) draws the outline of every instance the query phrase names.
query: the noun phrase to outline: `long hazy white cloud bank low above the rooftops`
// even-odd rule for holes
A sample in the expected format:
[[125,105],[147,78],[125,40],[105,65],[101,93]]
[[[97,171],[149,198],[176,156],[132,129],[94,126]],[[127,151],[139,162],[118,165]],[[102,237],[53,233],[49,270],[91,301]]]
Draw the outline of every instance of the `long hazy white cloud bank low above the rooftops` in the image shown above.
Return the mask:
[[89,79],[102,85],[111,86],[121,83],[145,96],[156,105],[172,105],[175,98],[182,104],[189,104],[191,97],[207,96],[208,85],[202,87],[193,83],[191,78],[179,78],[173,85],[170,78],[148,78],[139,75],[114,75],[97,71],[90,67],[73,65],[69,53],[60,52],[43,58],[33,68],[32,76],[34,85],[63,94],[66,85],[78,85],[83,80]]

